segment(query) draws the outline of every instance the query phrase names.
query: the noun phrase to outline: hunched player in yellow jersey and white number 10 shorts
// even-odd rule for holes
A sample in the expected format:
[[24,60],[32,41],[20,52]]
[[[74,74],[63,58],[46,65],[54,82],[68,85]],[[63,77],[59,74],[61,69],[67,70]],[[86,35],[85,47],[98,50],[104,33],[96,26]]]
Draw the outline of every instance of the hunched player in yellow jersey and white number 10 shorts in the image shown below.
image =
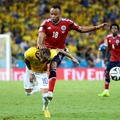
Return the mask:
[[71,58],[75,63],[79,62],[70,54],[62,49],[50,50],[48,48],[37,49],[37,47],[31,47],[24,53],[24,61],[26,63],[26,74],[24,79],[24,89],[27,95],[32,95],[36,92],[42,93],[43,111],[45,117],[50,117],[48,111],[48,104],[50,102],[50,96],[48,92],[49,82],[47,74],[47,65],[50,61],[50,57],[54,57],[55,52],[61,52],[67,57]]

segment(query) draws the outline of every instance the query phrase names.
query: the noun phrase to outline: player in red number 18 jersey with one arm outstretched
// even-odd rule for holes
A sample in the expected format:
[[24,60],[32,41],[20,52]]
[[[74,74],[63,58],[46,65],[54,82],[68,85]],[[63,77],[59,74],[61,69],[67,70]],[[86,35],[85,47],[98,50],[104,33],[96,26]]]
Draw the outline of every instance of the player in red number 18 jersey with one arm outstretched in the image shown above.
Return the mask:
[[[79,26],[72,20],[62,18],[60,6],[53,5],[50,9],[50,18],[44,20],[40,25],[37,46],[38,48],[47,47],[50,49],[59,48],[66,50],[65,40],[70,30],[86,33],[102,28],[105,25],[107,25],[107,23],[102,23],[97,26],[90,27]],[[56,68],[61,63],[63,57],[63,54],[58,53],[50,63],[49,91],[51,91],[51,96],[56,82]]]

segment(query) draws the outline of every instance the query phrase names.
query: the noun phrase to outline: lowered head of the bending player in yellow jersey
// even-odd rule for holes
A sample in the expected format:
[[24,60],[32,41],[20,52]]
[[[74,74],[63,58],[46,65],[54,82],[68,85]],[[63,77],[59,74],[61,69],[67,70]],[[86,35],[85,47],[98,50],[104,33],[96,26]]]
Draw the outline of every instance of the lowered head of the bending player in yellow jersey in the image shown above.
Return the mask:
[[50,50],[48,48],[42,48],[39,53],[39,59],[41,62],[47,62],[50,60]]

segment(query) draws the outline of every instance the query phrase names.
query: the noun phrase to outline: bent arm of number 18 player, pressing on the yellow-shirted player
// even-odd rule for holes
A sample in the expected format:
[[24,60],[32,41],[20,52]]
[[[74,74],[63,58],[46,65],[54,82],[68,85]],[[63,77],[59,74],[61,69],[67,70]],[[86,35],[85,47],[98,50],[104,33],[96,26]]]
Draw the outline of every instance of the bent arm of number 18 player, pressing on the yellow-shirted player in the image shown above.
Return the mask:
[[39,49],[44,48],[44,40],[45,40],[46,34],[44,32],[39,32],[38,39],[37,39],[37,47]]

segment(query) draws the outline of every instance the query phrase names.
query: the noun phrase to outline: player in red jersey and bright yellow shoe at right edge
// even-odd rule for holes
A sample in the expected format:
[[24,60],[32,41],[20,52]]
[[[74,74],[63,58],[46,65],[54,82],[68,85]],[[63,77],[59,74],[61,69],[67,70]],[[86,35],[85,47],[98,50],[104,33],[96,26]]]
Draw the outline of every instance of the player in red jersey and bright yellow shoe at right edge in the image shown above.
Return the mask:
[[99,96],[109,96],[109,84],[110,84],[110,77],[109,71],[113,67],[120,67],[120,34],[118,24],[112,24],[110,26],[110,30],[112,34],[107,36],[107,43],[108,48],[106,51],[104,62],[108,61],[108,55],[110,53],[110,60],[107,64],[107,68],[105,70],[105,90],[103,93],[99,94]]

